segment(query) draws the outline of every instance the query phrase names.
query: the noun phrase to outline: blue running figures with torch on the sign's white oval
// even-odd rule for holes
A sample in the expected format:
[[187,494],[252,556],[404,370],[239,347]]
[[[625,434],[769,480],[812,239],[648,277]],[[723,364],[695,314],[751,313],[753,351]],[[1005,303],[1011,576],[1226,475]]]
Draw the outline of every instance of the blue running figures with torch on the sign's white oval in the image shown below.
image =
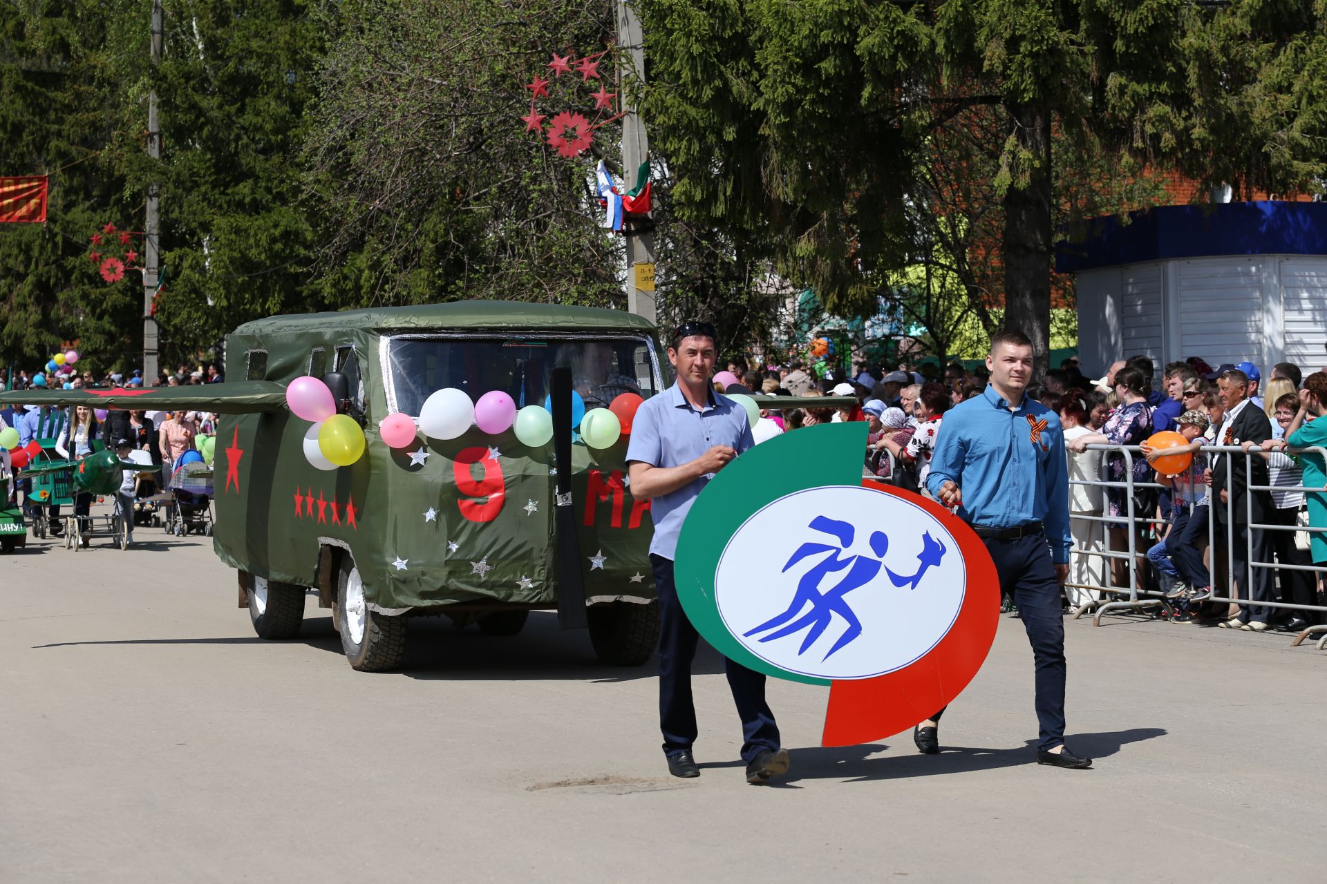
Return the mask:
[[[811,520],[809,527],[821,534],[829,534],[839,543],[808,541],[799,546],[783,566],[782,573],[787,573],[790,567],[809,555],[819,555],[821,553],[828,553],[828,555],[812,565],[802,575],[802,579],[798,580],[798,590],[792,596],[792,602],[783,614],[770,618],[754,630],[748,630],[743,634],[743,637],[750,639],[760,632],[767,632],[767,635],[759,639],[759,641],[766,643],[805,630],[807,634],[802,640],[802,647],[798,649],[798,656],[802,656],[824,634],[833,622],[833,615],[837,614],[847,623],[847,628],[833,643],[833,647],[829,648],[828,653],[821,657],[821,661],[828,660],[836,651],[861,637],[861,620],[844,598],[848,592],[871,583],[881,570],[885,571],[890,583],[896,587],[901,588],[906,586],[909,590],[916,590],[926,571],[938,566],[947,551],[943,543],[933,538],[930,531],[926,531],[922,535],[921,553],[917,554],[917,573],[900,575],[885,567],[884,558],[885,553],[889,551],[889,537],[884,531],[872,531],[868,539],[874,558],[871,555],[844,557],[844,550],[852,546],[853,537],[856,535],[856,529],[849,522],[827,516],[816,516]],[[847,570],[847,574],[832,588],[820,588],[821,583],[831,574],[844,570]]]

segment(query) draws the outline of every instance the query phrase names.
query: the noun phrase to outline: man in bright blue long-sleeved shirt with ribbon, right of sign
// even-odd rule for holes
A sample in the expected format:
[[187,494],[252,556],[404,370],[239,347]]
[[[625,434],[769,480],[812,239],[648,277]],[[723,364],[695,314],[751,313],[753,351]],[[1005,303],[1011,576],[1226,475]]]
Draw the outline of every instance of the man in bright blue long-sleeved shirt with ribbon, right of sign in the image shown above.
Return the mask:
[[[1001,588],[1014,596],[1036,664],[1036,761],[1089,767],[1064,745],[1064,614],[1068,577],[1070,492],[1064,435],[1054,411],[1023,395],[1032,376],[1032,342],[1019,331],[991,338],[985,395],[945,414],[926,488],[969,522],[995,562]],[[940,750],[941,709],[913,740]]]

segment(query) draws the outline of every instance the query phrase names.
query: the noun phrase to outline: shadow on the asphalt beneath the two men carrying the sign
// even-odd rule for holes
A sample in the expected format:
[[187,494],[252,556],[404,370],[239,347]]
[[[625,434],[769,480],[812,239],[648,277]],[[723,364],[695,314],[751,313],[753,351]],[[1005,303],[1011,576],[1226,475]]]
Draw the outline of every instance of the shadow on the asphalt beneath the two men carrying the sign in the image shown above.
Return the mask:
[[[1161,728],[1133,728],[1131,730],[1070,734],[1068,745],[1075,753],[1095,761],[1109,758],[1128,744],[1164,737],[1166,733]],[[900,736],[908,740],[906,734]],[[909,749],[912,747],[910,742],[908,740]],[[1036,763],[1035,740],[1028,740],[1024,746],[1016,749],[978,749],[941,744],[938,755],[905,754],[872,758],[885,749],[888,746],[884,744],[794,749],[792,769],[788,777],[779,783],[794,783],[799,779],[845,779],[852,782],[909,779]],[[701,765],[701,767],[735,767],[739,763],[742,762]]]

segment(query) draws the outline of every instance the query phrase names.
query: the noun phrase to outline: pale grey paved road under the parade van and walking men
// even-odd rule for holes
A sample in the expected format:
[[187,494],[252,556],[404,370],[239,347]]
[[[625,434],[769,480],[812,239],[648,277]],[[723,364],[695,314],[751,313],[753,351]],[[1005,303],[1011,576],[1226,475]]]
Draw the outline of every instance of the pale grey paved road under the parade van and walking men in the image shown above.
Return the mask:
[[1071,745],[1039,767],[1031,655],[1003,620],[945,718],[816,746],[825,691],[771,683],[792,777],[744,785],[702,655],[703,775],[664,775],[650,667],[551,615],[411,624],[353,672],[311,599],[264,643],[192,538],[0,561],[4,881],[1290,880],[1327,859],[1327,655],[1151,622],[1068,630]]

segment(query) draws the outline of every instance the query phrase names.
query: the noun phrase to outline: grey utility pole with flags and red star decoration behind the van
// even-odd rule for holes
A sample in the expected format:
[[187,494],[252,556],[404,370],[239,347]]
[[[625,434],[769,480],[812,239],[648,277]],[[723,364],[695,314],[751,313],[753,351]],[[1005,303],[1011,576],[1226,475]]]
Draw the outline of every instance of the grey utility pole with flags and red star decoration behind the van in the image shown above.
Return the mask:
[[[625,52],[628,76],[645,81],[645,38],[641,34],[641,20],[632,8],[632,0],[617,0],[617,46]],[[618,68],[618,82],[624,68]],[[650,143],[645,137],[645,122],[636,113],[636,106],[624,95],[622,110],[622,190],[630,191],[640,182],[637,171],[650,156]],[[625,225],[626,236],[626,309],[654,322],[654,223],[646,219],[641,227],[632,229]]]

